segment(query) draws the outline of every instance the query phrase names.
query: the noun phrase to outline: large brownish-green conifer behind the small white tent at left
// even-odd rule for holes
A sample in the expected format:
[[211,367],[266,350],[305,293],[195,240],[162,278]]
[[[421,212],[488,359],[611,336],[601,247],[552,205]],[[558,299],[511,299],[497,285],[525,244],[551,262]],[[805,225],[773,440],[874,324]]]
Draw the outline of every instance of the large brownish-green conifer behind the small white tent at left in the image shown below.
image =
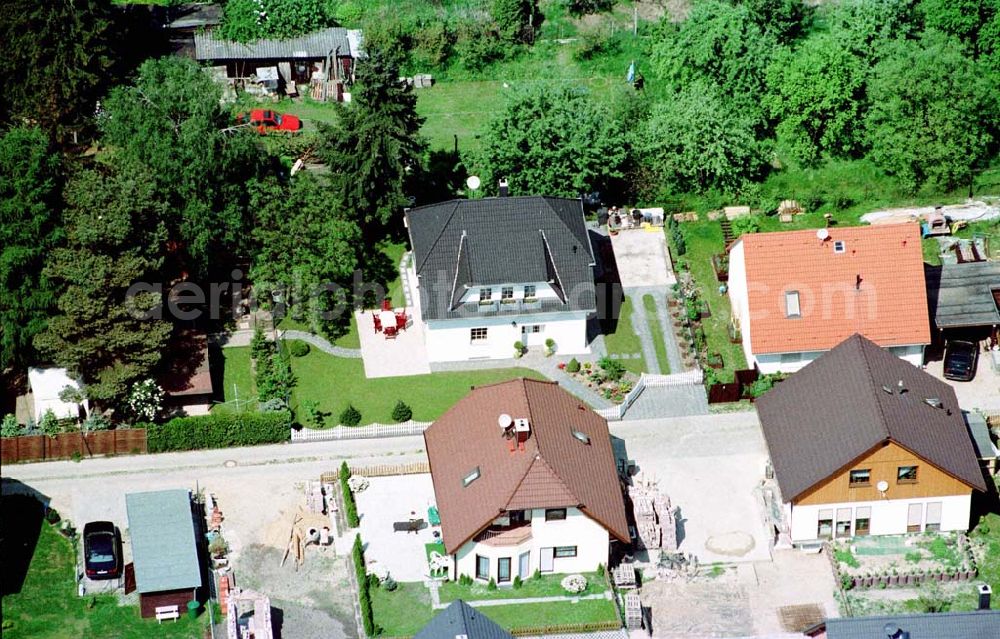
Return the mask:
[[167,238],[164,206],[142,173],[84,170],[66,188],[66,246],[45,275],[62,286],[58,314],[35,336],[51,361],[78,373],[87,396],[121,402],[133,382],[160,362],[169,322],[149,318],[162,296],[129,297],[136,282],[155,283]]

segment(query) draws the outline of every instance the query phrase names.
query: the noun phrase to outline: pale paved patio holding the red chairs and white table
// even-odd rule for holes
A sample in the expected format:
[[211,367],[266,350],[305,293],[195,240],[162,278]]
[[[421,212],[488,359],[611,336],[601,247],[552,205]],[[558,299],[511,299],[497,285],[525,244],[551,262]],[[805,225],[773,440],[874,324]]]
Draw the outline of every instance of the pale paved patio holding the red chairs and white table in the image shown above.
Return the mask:
[[[395,309],[402,312],[404,309]],[[426,375],[431,372],[427,362],[427,347],[424,344],[424,324],[416,308],[407,307],[407,324],[387,337],[384,328],[375,330],[375,317],[380,311],[356,311],[354,319],[358,324],[361,339],[361,358],[365,365],[365,377],[405,377]],[[382,323],[380,321],[380,323]]]

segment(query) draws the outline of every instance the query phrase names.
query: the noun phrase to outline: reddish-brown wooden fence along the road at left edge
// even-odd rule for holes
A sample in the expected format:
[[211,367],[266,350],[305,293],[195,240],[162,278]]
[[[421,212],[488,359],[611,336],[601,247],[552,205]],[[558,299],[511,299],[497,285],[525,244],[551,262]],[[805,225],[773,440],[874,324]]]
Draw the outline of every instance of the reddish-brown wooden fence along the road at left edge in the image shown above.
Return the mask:
[[146,452],[146,431],[102,430],[89,433],[22,435],[0,439],[0,463],[69,459],[94,455],[121,455]]

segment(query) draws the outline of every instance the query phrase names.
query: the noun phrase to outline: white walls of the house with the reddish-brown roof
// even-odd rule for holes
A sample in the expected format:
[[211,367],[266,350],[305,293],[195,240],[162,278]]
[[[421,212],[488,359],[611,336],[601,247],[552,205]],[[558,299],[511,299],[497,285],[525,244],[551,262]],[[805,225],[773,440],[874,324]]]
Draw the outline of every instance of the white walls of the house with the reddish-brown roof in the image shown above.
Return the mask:
[[476,576],[476,555],[489,557],[490,576],[497,578],[498,559],[509,557],[511,560],[511,580],[518,575],[519,557],[522,553],[530,553],[529,567],[526,579],[539,569],[542,548],[557,546],[576,546],[576,557],[556,557],[553,560],[554,573],[591,572],[598,564],[608,564],[608,543],[610,535],[599,523],[587,517],[576,508],[566,509],[566,519],[562,521],[545,521],[545,510],[532,511],[531,537],[517,546],[490,546],[484,543],[468,542],[455,553],[458,575]]

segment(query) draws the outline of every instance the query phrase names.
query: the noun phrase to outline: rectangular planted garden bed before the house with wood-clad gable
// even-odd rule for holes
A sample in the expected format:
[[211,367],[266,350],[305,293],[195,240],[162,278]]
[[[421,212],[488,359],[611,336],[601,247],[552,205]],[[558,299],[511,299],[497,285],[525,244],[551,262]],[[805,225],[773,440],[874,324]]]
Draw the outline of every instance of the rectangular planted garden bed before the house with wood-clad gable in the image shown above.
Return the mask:
[[834,576],[844,590],[965,581],[976,574],[964,534],[855,538],[830,544]]

